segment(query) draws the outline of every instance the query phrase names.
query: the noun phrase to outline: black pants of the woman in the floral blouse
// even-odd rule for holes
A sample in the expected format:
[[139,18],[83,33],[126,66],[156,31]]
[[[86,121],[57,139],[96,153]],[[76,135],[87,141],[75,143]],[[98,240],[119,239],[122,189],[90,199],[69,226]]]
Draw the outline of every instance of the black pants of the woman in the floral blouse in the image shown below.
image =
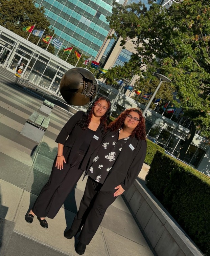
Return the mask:
[[74,218],[71,230],[75,233],[80,231],[79,241],[89,244],[95,235],[107,208],[115,201],[113,191],[101,192],[102,184],[88,177],[83,198],[81,199],[79,211]]

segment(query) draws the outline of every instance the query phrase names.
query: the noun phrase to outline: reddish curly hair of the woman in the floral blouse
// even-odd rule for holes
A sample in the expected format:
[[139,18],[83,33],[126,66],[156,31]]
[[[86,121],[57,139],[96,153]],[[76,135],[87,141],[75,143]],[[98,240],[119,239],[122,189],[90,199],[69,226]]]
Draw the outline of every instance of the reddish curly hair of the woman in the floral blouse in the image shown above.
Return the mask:
[[130,137],[135,136],[138,140],[146,141],[145,119],[144,119],[141,111],[137,108],[126,109],[112,123],[109,124],[108,129],[110,131],[117,131],[118,129],[123,127],[126,116],[128,114],[130,114],[132,111],[137,112],[139,114],[140,121],[139,121],[138,125],[136,126],[136,128],[133,130]]

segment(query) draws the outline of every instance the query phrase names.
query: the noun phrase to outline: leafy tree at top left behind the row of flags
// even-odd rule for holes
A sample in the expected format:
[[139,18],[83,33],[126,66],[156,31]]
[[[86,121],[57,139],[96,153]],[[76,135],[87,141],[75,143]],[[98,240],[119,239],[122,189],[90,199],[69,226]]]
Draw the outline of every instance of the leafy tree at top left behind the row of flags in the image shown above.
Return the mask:
[[[45,18],[45,8],[35,6],[35,2],[32,0],[6,0],[0,3],[0,25],[13,31],[17,35],[27,39],[29,33],[23,31],[23,27],[33,26],[36,24],[34,29],[44,30],[45,35],[53,36],[54,29],[50,28],[50,22]],[[54,35],[56,36],[56,35]],[[39,37],[30,35],[28,41],[37,44]],[[42,40],[39,46],[46,48],[47,44]],[[54,53],[54,46],[49,45],[49,52]]]

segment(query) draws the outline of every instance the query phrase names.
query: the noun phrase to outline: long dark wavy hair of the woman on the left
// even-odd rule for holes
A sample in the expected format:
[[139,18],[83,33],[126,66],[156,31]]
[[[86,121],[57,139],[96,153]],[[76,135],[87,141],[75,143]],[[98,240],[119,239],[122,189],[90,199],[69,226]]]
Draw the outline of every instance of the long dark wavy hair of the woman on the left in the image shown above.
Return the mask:
[[107,126],[108,126],[107,123],[108,123],[109,117],[110,117],[111,102],[109,99],[107,99],[105,97],[100,97],[100,98],[97,98],[96,100],[94,100],[91,103],[91,105],[89,106],[87,112],[83,114],[82,118],[76,123],[76,125],[79,125],[83,130],[86,130],[88,128],[91,118],[92,118],[93,109],[94,109],[96,103],[99,102],[100,100],[106,101],[109,105],[106,113],[103,116],[101,116],[101,118],[100,118],[101,133],[102,134],[106,133]]

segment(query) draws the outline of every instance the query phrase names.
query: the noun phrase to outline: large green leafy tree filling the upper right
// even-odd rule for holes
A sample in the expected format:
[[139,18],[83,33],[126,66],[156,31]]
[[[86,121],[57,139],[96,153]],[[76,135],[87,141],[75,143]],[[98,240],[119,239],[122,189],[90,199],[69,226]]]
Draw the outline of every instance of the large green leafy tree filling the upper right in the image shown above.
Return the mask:
[[[159,69],[169,77],[180,100],[176,105],[210,138],[210,1],[183,0],[168,9],[155,3],[147,9],[141,2],[125,7],[115,2],[107,20],[122,38],[121,45],[126,40],[135,44],[129,62],[145,64],[147,76]],[[145,77],[141,65],[139,73]]]

